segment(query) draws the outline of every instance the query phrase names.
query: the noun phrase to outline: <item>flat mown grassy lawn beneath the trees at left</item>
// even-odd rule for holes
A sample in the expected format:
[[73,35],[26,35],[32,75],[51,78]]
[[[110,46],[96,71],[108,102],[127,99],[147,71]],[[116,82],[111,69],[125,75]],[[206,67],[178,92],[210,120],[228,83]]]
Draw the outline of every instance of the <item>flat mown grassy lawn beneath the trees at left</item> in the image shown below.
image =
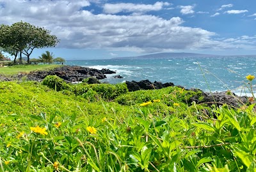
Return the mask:
[[50,70],[57,68],[58,64],[22,64],[8,67],[1,67],[0,74],[15,75],[17,73],[29,73],[31,71]]

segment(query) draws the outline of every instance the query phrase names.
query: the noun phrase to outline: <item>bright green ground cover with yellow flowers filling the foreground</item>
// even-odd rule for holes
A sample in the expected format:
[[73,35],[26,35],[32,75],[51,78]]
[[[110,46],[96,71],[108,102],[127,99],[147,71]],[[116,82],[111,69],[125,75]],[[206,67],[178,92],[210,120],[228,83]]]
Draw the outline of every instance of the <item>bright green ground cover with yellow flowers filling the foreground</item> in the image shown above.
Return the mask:
[[[247,77],[249,88],[253,79]],[[180,87],[127,92],[124,83],[68,85],[56,76],[0,82],[0,167],[255,171],[255,97],[230,108],[189,101],[198,95]]]

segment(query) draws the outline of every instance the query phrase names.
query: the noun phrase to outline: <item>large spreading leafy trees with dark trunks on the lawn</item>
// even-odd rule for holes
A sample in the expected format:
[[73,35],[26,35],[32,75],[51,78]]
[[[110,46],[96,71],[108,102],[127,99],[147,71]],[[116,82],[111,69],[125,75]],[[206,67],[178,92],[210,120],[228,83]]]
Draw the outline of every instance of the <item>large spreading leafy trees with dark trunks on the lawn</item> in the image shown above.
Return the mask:
[[22,54],[28,57],[35,48],[55,47],[59,42],[56,36],[44,27],[36,27],[26,22],[17,22],[13,25],[0,26],[0,47],[10,48],[19,52],[20,62]]

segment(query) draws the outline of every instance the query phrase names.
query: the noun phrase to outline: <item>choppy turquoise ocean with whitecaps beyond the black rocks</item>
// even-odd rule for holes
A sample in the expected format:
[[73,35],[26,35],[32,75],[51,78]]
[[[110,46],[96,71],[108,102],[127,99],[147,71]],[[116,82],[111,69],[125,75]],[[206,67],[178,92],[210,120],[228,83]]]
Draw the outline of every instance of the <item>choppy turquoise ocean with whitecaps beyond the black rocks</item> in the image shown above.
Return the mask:
[[[106,75],[102,82],[150,80],[172,82],[186,89],[220,92],[232,90],[244,94],[248,87],[245,76],[256,75],[256,59],[252,57],[170,57],[164,59],[106,59],[67,61],[67,65],[108,68],[116,74]],[[113,78],[115,75],[124,78]],[[248,90],[246,90],[247,93]]]

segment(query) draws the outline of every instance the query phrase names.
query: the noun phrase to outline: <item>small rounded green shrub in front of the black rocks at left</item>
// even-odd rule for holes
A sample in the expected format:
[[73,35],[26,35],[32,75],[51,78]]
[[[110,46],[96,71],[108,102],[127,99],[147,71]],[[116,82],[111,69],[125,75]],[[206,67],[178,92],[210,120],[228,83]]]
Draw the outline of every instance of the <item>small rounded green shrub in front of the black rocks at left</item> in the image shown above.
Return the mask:
[[68,89],[68,84],[63,81],[59,76],[49,75],[46,76],[42,82],[43,85],[51,89],[56,89],[57,91]]

